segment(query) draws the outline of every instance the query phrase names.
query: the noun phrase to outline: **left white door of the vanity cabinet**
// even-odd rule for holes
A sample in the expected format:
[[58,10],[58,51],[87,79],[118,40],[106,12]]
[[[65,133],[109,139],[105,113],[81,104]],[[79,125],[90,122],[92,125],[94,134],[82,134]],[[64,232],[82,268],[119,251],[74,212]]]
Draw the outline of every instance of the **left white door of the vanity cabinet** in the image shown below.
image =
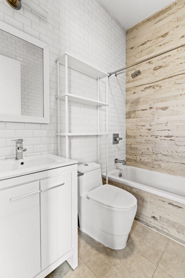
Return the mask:
[[0,272],[32,278],[40,272],[39,182],[0,191]]

